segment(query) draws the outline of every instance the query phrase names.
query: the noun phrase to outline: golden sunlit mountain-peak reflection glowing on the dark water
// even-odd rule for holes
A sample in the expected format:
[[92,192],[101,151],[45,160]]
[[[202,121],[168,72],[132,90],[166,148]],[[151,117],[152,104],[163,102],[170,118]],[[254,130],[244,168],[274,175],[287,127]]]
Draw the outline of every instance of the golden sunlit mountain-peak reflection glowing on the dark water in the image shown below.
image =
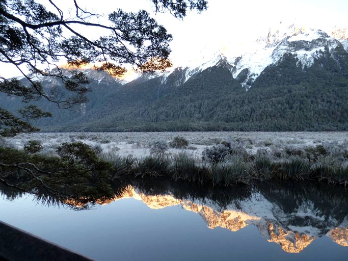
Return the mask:
[[[249,215],[247,212],[234,209],[218,211],[213,206],[208,206],[199,202],[196,203],[191,200],[177,199],[170,194],[146,195],[138,192],[131,186],[125,189],[120,195],[115,195],[111,199],[101,198],[96,200],[95,203],[104,205],[124,198],[141,200],[153,210],[180,205],[186,211],[199,214],[210,229],[222,227],[234,232],[248,226],[249,224],[256,225],[261,234],[268,238],[268,242],[280,245],[280,247],[288,253],[300,253],[315,240],[315,237],[310,234],[291,230],[287,231],[282,226],[276,225],[270,220],[259,216]],[[76,201],[71,199],[66,200],[65,203],[75,207],[84,207],[89,202],[87,202],[87,200]],[[348,246],[348,228],[334,228],[327,234],[327,236],[341,246]]]

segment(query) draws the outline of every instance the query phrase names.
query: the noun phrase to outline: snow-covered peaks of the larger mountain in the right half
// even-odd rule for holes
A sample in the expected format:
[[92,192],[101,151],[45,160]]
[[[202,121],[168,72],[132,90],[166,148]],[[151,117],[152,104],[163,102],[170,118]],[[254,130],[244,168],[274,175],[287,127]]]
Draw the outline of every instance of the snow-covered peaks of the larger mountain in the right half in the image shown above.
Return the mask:
[[322,30],[306,29],[291,24],[289,27],[270,29],[267,34],[259,37],[250,50],[239,57],[226,57],[216,53],[215,57],[202,63],[198,67],[185,68],[185,80],[204,69],[225,62],[230,67],[233,77],[239,80],[245,88],[251,84],[269,65],[275,65],[285,54],[291,54],[298,59],[298,66],[302,69],[313,65],[315,59],[323,56],[328,50],[343,47],[348,51],[347,29],[335,28],[331,36]]

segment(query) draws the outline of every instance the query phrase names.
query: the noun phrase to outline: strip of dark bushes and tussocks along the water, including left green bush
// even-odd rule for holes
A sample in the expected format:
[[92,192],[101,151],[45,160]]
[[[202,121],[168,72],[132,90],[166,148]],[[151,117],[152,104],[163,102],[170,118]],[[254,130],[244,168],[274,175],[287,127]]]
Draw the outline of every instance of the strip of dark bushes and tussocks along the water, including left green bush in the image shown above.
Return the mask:
[[[179,149],[178,152],[168,154],[168,145]],[[46,186],[53,191],[57,184],[68,190],[86,186],[84,192],[95,196],[98,189],[111,193],[113,180],[125,178],[166,177],[224,187],[250,185],[255,180],[310,180],[348,186],[346,144],[330,149],[316,145],[250,153],[243,142],[222,141],[206,147],[201,159],[190,154],[188,145],[182,137],[169,144],[156,142],[151,146],[151,154],[141,158],[103,152],[83,142],[63,143],[53,155],[40,154],[37,142],[26,144],[24,150],[0,147],[0,181],[6,184],[9,179],[25,179],[25,175],[30,175],[34,186]],[[270,146],[271,142],[266,141],[265,145]]]

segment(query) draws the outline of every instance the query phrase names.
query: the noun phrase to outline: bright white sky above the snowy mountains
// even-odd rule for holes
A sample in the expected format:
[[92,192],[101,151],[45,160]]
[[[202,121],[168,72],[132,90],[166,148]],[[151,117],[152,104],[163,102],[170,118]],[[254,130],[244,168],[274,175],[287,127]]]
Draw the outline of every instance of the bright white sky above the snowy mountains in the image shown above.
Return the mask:
[[[42,4],[47,0],[40,0]],[[71,6],[72,0],[57,1],[60,7]],[[208,10],[197,14],[189,12],[183,20],[169,13],[153,13],[148,0],[77,0],[82,7],[105,16],[121,8],[136,12],[145,9],[158,23],[173,35],[170,59],[174,66],[184,66],[190,61],[208,59],[213,54],[228,53],[239,56],[250,43],[270,28],[296,23],[301,27],[327,31],[332,27],[348,27],[347,0],[208,0]],[[92,30],[85,32],[92,36]],[[18,75],[13,69],[0,65],[2,75]]]

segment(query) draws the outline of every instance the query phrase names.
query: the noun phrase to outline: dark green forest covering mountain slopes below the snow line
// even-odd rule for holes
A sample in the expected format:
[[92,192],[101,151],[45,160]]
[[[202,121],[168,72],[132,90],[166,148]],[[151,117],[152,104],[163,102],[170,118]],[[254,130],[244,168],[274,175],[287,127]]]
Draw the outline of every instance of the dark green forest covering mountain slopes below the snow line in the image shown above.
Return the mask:
[[92,81],[90,101],[77,111],[39,101],[53,117],[36,124],[43,131],[93,132],[348,130],[348,55],[342,47],[334,56],[327,50],[310,67],[285,55],[248,90],[224,63],[184,83],[183,75],[176,69],[165,81]]

